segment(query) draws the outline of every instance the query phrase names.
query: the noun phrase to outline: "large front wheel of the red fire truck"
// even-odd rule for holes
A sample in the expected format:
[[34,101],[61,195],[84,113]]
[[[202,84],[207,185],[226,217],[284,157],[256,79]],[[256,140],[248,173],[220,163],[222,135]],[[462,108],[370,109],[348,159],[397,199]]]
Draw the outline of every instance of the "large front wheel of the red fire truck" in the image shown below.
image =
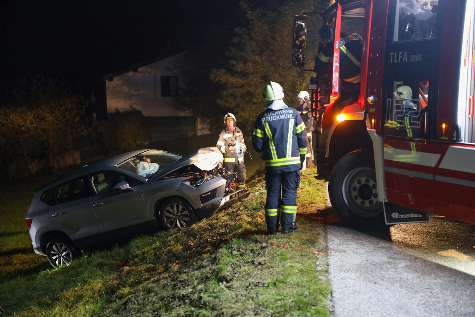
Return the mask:
[[372,151],[357,150],[343,156],[330,174],[328,194],[336,213],[347,225],[386,226],[383,205],[378,201]]

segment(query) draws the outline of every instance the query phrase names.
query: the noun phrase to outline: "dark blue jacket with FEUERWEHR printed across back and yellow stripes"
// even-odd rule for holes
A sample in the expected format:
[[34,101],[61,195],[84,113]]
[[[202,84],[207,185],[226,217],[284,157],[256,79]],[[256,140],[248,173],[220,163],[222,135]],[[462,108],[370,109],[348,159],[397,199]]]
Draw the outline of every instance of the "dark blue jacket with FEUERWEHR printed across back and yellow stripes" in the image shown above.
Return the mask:
[[299,170],[307,151],[305,124],[294,108],[266,108],[254,125],[252,146],[274,173]]

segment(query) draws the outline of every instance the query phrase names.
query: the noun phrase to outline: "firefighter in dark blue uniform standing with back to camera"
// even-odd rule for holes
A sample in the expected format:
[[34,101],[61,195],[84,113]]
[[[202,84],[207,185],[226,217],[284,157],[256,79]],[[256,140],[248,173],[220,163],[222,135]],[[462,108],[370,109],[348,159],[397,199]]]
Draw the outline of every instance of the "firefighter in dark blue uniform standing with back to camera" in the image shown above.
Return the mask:
[[[256,119],[252,146],[266,161],[266,224],[267,234],[295,231],[297,188],[300,169],[307,152],[305,124],[294,108],[285,105],[284,90],[276,82],[264,88],[267,108]],[[282,198],[280,196],[282,188]]]

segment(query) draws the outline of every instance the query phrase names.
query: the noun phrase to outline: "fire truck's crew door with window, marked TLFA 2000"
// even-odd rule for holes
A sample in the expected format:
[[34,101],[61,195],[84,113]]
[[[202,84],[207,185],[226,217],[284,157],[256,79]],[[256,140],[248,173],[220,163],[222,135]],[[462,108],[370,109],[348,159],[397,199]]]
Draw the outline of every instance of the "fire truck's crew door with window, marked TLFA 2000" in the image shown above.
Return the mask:
[[[435,153],[431,122],[437,116],[433,105],[439,74],[434,65],[439,63],[440,38],[435,27],[426,25],[432,11],[419,8],[415,14],[420,20],[409,23],[406,9],[403,0],[389,1],[380,108],[386,194],[390,203],[433,213],[440,155]],[[411,29],[414,23],[418,28]]]

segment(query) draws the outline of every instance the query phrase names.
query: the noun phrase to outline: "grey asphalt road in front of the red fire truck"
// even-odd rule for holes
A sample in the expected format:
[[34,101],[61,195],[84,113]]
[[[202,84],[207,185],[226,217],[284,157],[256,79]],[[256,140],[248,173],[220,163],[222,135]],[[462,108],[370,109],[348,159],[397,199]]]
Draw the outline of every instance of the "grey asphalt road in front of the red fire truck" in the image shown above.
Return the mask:
[[475,316],[474,225],[432,217],[384,232],[326,231],[336,317]]

